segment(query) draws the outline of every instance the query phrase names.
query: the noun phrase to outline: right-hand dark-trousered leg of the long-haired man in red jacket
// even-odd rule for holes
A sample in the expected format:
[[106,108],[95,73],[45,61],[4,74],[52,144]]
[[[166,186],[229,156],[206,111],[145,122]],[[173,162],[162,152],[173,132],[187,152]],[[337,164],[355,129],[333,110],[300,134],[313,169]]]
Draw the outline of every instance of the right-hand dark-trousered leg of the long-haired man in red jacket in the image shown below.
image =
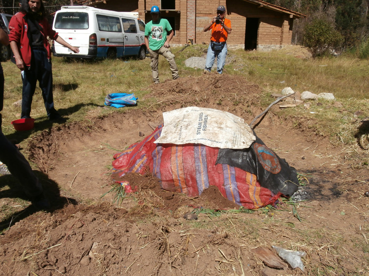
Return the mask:
[[35,56],[35,67],[37,68],[37,79],[42,91],[47,116],[49,119],[58,119],[60,118],[60,114],[54,108],[51,61],[47,58],[46,50],[34,50],[33,53]]

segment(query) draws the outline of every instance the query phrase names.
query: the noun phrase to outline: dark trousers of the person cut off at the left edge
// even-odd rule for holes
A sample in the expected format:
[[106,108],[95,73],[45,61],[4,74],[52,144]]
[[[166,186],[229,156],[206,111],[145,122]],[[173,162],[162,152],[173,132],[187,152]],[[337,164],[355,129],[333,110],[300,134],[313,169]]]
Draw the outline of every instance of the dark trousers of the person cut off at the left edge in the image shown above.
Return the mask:
[[[1,66],[1,65],[0,65]],[[0,95],[4,93],[4,75],[0,74]],[[10,173],[21,183],[25,193],[32,197],[42,193],[42,186],[34,175],[30,164],[20,151],[13,145],[1,131],[0,114],[0,161],[4,163]]]

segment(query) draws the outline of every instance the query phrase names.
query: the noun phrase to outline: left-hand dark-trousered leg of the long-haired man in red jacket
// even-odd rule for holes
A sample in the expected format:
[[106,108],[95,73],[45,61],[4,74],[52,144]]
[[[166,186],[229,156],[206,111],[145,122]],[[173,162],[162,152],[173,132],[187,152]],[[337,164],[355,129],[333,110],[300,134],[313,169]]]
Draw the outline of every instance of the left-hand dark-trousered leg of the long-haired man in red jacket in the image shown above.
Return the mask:
[[36,89],[36,74],[34,68],[26,68],[22,74],[22,112],[21,118],[31,118],[31,105],[34,90]]

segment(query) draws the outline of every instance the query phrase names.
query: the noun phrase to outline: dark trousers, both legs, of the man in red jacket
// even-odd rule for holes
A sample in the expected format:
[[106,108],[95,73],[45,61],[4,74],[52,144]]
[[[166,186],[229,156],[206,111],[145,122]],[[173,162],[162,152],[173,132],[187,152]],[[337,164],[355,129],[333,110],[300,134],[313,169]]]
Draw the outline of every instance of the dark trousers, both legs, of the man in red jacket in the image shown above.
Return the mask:
[[43,47],[34,48],[31,51],[31,67],[26,67],[23,74],[21,118],[31,118],[32,98],[37,81],[42,90],[42,97],[48,117],[57,118],[60,115],[54,108],[51,61],[47,58],[46,49]]

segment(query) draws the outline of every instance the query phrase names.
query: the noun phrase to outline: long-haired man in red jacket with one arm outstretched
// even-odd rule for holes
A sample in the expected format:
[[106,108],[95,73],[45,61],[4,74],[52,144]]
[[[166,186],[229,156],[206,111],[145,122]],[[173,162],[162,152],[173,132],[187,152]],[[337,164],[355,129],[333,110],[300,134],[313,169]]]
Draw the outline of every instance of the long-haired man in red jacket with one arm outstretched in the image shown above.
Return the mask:
[[51,49],[47,37],[74,53],[79,53],[79,49],[71,46],[51,28],[42,0],[22,0],[20,12],[11,18],[9,29],[15,63],[24,71],[21,118],[31,118],[32,97],[38,80],[47,116],[50,120],[62,120],[54,108]]

